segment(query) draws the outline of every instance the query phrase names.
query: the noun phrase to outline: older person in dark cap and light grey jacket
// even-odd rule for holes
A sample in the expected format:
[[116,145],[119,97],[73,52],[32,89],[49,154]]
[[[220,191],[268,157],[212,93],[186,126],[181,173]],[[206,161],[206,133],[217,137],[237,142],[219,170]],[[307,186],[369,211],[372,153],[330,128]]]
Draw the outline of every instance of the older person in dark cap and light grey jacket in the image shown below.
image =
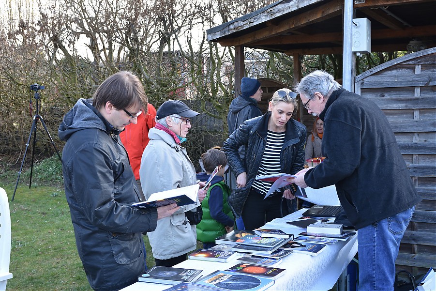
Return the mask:
[[[165,101],[157,110],[156,126],[149,131],[150,142],[139,168],[147,199],[155,192],[197,183],[194,165],[181,143],[191,128],[190,118],[198,114],[180,100]],[[174,214],[159,220],[156,230],[147,233],[156,265],[171,267],[186,260],[187,253],[195,250],[196,228],[188,217],[201,205],[206,194],[207,191],[199,190],[195,204],[180,206]]]

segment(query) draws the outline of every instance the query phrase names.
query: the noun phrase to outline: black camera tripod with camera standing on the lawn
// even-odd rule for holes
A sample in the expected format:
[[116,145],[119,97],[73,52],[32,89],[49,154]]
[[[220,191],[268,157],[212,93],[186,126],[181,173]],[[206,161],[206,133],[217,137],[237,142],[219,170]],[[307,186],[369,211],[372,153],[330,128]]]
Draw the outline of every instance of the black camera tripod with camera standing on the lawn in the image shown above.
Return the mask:
[[[30,181],[29,181],[29,189],[30,186],[32,184],[32,172],[33,172],[33,157],[34,157],[34,153],[35,153],[35,144],[36,144],[36,126],[38,125],[38,121],[41,121],[45,133],[47,134],[48,138],[50,139],[51,144],[53,145],[53,148],[55,149],[56,153],[58,154],[60,163],[62,163],[62,159],[60,158],[60,154],[58,149],[55,146],[55,143],[53,141],[53,138],[51,138],[50,133],[48,132],[47,126],[45,126],[45,122],[44,119],[41,115],[39,115],[39,100],[41,99],[40,96],[40,92],[41,90],[44,90],[45,87],[44,86],[40,86],[38,84],[33,84],[30,85],[30,91],[34,91],[35,93],[33,94],[33,97],[35,98],[35,105],[36,105],[36,114],[33,116],[33,122],[32,125],[30,127],[30,134],[29,134],[29,138],[27,139],[27,143],[26,143],[26,150],[24,151],[24,156],[23,156],[23,160],[21,161],[21,167],[20,170],[18,171],[18,178],[16,179],[16,184],[15,184],[15,190],[14,190],[14,195],[12,195],[12,199],[11,201],[14,201],[14,197],[15,197],[15,192],[16,192],[16,188],[18,186],[18,181],[20,181],[20,176],[21,176],[21,170],[23,169],[23,165],[24,165],[24,161],[26,159],[26,155],[27,155],[27,150],[29,149],[29,145],[30,145],[30,139],[32,138],[32,134],[33,134],[33,144],[32,144],[32,161],[30,164]],[[30,97],[30,114],[31,114],[31,109],[32,109],[32,97]]]

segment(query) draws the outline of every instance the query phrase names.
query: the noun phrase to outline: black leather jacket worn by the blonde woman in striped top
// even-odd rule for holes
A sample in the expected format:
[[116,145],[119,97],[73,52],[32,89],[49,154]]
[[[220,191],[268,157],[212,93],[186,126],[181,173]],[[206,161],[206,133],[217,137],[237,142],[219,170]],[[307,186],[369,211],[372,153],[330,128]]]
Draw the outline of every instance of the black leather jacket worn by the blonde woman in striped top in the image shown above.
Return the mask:
[[[228,163],[236,177],[242,172],[247,173],[247,183],[244,187],[234,189],[229,196],[230,207],[237,217],[241,216],[245,200],[250,192],[266,146],[268,121],[271,112],[245,121],[224,142],[224,152]],[[304,145],[306,143],[306,126],[294,119],[286,123],[285,142],[280,153],[281,171],[295,174],[304,166]],[[245,159],[241,160],[238,149],[245,146]]]

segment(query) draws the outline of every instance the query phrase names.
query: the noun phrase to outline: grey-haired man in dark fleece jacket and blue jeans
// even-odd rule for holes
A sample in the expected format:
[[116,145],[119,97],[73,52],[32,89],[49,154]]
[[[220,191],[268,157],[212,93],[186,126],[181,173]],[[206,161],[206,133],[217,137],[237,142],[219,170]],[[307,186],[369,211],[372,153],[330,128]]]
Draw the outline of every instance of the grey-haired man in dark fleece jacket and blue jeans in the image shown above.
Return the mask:
[[341,88],[326,72],[307,75],[296,91],[308,112],[324,121],[326,159],[289,181],[312,188],[336,185],[359,230],[359,290],[391,291],[400,241],[421,201],[391,125],[374,102]]

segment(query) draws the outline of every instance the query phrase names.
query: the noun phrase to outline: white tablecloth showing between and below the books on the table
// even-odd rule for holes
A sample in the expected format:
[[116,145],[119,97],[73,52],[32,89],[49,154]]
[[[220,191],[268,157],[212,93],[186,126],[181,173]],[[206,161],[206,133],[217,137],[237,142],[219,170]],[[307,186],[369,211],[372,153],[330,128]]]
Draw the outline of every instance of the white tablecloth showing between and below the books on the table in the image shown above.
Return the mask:
[[[286,224],[284,222],[298,220],[298,218],[301,217],[302,213],[305,210],[307,209],[301,209],[293,214],[287,215],[286,217],[277,218],[272,222],[267,223],[264,228],[272,229],[272,227],[274,227],[275,229],[284,230],[286,233],[292,233],[295,240],[295,238],[297,238],[297,236],[304,230],[299,229],[298,227],[290,226],[289,224]],[[300,243],[297,242],[297,244],[310,244],[310,242],[305,241],[299,242]],[[285,244],[284,246],[289,244],[291,244],[291,242]],[[323,250],[316,255],[307,255],[304,251],[296,251],[296,249],[298,248],[292,248],[293,252],[291,254],[283,257],[280,262],[274,265],[275,268],[286,269],[286,271],[282,272],[281,276],[272,277],[273,282],[268,282],[268,280],[271,281],[271,277],[268,280],[265,280],[263,276],[256,276],[259,281],[266,281],[266,285],[263,288],[256,288],[255,286],[253,286],[253,288],[249,289],[247,287],[248,285],[246,285],[246,287],[244,288],[237,288],[235,286],[226,285],[226,288],[228,290],[330,290],[336,283],[342,272],[346,270],[348,263],[357,253],[357,235],[351,235],[344,240],[337,240],[337,242],[334,244],[325,244],[322,248]],[[279,251],[281,249],[282,248],[280,248]],[[244,266],[250,265],[249,263],[243,263],[243,261],[238,260],[246,254],[247,253],[244,252],[237,252],[236,255],[232,256],[226,262],[189,259],[175,265],[174,267],[182,269],[202,270],[203,274],[201,278],[205,278],[206,276],[217,270],[225,271],[226,269],[233,269],[233,271],[236,271],[238,269],[243,269]],[[237,266],[238,264],[240,265]],[[256,270],[254,270],[254,273],[261,272],[262,270],[260,269],[262,268],[256,268]],[[221,273],[225,272],[219,272],[217,274],[221,275]],[[261,284],[263,283],[259,284],[260,286],[262,286]],[[170,285],[164,284],[137,282],[122,290],[162,291],[170,287]],[[196,288],[197,289],[190,288],[180,290],[206,290],[206,288],[203,286]]]

